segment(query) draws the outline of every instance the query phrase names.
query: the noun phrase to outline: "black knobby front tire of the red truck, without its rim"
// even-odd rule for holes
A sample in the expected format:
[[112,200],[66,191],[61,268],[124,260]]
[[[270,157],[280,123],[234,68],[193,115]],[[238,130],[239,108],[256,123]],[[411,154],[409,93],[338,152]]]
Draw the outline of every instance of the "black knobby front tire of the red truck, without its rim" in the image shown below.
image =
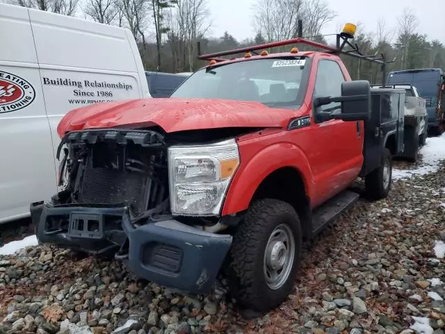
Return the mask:
[[[294,256],[292,262],[289,260],[289,276],[284,275],[284,283],[271,289],[264,271],[266,246],[275,229],[283,225],[293,233]],[[238,305],[268,312],[285,301],[295,284],[301,249],[301,225],[295,209],[275,199],[254,202],[236,229],[226,268],[230,291]]]

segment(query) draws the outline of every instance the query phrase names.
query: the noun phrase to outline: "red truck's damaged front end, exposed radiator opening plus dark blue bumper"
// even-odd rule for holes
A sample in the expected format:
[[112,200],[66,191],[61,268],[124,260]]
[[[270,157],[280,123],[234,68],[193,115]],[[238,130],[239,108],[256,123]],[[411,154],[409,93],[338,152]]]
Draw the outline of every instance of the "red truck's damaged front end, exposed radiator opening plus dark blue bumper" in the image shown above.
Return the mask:
[[112,253],[142,278],[193,293],[213,284],[232,237],[172,216],[168,147],[162,134],[132,129],[69,132],[59,145],[58,159],[61,152],[63,189],[49,202],[31,204],[41,244]]

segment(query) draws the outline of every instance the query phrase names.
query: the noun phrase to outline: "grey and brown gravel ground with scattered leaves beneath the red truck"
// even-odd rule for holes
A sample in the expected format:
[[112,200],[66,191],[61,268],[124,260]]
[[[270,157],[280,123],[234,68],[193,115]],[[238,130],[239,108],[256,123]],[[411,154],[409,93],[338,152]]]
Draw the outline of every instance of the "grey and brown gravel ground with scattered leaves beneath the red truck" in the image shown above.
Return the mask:
[[359,200],[306,250],[289,299],[250,320],[222,284],[188,296],[122,262],[19,250],[0,256],[0,333],[444,334],[443,202],[445,164],[394,182],[385,200]]

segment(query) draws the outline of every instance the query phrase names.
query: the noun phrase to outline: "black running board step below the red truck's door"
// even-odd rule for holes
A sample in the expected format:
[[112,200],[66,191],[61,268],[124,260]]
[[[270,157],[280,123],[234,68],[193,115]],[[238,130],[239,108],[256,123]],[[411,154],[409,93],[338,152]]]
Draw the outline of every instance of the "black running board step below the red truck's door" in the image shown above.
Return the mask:
[[312,214],[312,237],[315,237],[327,224],[334,221],[335,218],[348,209],[350,205],[357,202],[358,199],[358,193],[346,190],[315,209]]

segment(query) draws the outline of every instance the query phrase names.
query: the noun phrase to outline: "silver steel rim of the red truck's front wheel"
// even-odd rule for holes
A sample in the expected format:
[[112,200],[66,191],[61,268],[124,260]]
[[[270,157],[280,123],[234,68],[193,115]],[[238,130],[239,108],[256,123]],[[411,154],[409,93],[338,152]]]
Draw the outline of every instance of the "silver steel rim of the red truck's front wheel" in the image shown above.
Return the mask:
[[264,277],[270,289],[280,289],[292,271],[295,239],[289,225],[278,225],[270,234],[264,253]]

